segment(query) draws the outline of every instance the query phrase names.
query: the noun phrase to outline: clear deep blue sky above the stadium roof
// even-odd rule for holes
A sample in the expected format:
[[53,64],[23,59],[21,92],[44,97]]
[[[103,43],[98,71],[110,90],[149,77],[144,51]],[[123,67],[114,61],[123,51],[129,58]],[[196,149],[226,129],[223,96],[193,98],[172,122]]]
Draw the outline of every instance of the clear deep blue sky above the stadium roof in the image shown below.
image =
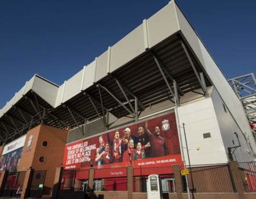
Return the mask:
[[[226,77],[256,73],[255,1],[181,9]],[[35,73],[61,84],[168,1],[0,1],[0,108]]]

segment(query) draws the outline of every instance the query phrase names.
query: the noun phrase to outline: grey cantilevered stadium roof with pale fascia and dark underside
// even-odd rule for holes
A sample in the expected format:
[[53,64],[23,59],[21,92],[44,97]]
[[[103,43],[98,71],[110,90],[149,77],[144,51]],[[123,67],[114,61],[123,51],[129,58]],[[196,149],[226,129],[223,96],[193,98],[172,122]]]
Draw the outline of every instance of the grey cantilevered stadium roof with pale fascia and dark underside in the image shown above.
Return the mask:
[[[167,74],[171,85],[167,85],[161,70]],[[238,126],[243,132],[249,131],[246,117],[241,115],[243,109],[240,101],[175,1],[144,19],[141,25],[59,87],[39,75],[31,79],[22,88],[26,91],[23,92],[31,95],[28,91],[32,90],[41,98],[39,100],[44,104],[42,109],[51,109],[48,115],[51,119],[47,119],[47,124],[58,128],[79,126],[85,119],[102,118],[109,111],[120,118],[134,111],[132,109],[136,103],[147,106],[166,99],[172,100],[174,93],[171,92],[175,87],[172,82],[175,80],[180,98],[183,92],[198,88],[207,92],[206,86],[216,87]],[[122,89],[127,92],[127,96],[123,95]],[[13,104],[18,102],[17,96],[22,99],[23,93],[19,91],[1,109],[0,123],[3,113],[10,111]],[[115,96],[120,97],[113,100]],[[90,103],[91,100],[94,103]],[[24,107],[35,109],[26,103],[22,102]],[[102,113],[98,113],[99,110]],[[34,111],[34,115],[40,118],[40,112]],[[1,128],[0,125],[0,132],[5,131]]]

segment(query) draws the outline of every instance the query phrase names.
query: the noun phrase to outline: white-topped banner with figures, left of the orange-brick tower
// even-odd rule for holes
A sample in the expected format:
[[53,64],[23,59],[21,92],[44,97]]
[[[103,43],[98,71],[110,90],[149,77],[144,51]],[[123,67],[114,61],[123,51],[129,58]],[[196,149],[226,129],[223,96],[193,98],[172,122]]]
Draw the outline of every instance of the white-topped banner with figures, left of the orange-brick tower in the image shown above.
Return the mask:
[[4,169],[8,170],[9,172],[17,170],[25,139],[26,135],[5,145],[0,161],[0,171]]

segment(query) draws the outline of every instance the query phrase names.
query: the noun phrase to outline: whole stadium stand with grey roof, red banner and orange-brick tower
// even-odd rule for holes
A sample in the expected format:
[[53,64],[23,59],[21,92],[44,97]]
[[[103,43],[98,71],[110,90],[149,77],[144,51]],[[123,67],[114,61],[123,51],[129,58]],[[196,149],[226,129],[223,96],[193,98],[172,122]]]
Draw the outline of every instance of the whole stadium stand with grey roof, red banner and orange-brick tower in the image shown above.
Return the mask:
[[185,147],[191,164],[250,162],[256,153],[241,101],[175,1],[60,86],[34,75],[0,110],[0,139],[1,194],[21,186],[22,197],[39,184],[53,195],[56,167],[101,168],[97,179],[113,167],[107,177],[122,181],[126,166],[147,175],[183,167]]

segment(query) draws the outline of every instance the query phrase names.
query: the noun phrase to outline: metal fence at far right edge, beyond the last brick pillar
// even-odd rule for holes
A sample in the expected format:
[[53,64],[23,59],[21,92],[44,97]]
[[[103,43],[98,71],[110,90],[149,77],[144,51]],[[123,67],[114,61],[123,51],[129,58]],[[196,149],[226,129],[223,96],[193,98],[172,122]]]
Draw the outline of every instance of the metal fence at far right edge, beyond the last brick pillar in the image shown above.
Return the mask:
[[256,162],[238,163],[245,192],[256,192]]

